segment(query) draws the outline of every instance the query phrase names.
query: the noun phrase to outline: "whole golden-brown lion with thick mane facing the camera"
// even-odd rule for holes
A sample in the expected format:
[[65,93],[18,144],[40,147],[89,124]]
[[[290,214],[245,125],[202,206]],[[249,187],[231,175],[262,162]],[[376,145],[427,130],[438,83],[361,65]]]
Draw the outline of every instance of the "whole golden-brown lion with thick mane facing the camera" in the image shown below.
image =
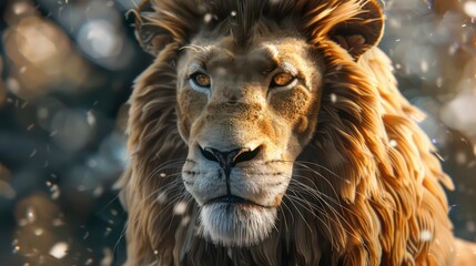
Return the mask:
[[126,265],[463,258],[452,180],[376,47],[375,0],[146,0],[132,12],[154,61],[130,99]]

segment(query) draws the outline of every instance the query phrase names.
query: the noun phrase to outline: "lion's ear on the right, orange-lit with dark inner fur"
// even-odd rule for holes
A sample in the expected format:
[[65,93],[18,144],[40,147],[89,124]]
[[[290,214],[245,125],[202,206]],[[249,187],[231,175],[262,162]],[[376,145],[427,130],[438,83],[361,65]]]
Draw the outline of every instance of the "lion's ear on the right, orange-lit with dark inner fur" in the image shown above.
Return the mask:
[[328,38],[357,60],[364,52],[378,43],[384,29],[384,16],[375,0],[357,1],[362,6],[348,20],[337,23]]

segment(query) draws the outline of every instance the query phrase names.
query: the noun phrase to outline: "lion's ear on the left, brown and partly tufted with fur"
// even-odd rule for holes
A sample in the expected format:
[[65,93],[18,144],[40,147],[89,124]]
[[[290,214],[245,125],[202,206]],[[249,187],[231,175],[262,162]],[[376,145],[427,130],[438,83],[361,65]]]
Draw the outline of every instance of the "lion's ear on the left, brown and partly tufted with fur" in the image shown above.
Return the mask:
[[144,51],[158,55],[171,42],[185,42],[195,20],[192,1],[188,2],[142,0],[130,11],[135,17],[135,38]]

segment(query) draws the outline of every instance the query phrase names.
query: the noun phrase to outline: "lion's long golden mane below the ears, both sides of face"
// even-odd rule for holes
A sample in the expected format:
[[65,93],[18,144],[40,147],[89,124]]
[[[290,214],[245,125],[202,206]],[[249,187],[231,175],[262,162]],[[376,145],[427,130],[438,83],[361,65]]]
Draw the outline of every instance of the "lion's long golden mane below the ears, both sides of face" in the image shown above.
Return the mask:
[[[419,113],[398,93],[388,59],[373,49],[357,68],[336,44],[322,45],[330,65],[323,108],[315,137],[296,163],[294,178],[302,185],[290,186],[291,195],[294,190],[311,205],[284,200],[276,231],[250,248],[201,237],[198,206],[176,174],[186,156],[174,124],[174,70],[168,63],[176,45],[138,79],[129,124],[133,155],[122,192],[130,215],[128,265],[449,264],[452,225],[438,183],[452,184],[408,119]],[[152,165],[162,165],[166,176]],[[313,186],[310,180],[321,197],[303,190]],[[176,212],[176,203],[186,209]],[[422,239],[423,232],[432,238]]]

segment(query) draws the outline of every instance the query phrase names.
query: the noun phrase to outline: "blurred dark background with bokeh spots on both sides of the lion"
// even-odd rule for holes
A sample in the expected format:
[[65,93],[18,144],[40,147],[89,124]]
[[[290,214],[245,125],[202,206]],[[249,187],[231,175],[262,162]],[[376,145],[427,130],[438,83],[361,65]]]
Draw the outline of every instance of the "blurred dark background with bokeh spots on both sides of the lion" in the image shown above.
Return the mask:
[[[152,62],[139,0],[0,1],[0,264],[120,265],[125,102]],[[455,181],[457,236],[476,241],[476,1],[385,1],[381,47]]]

